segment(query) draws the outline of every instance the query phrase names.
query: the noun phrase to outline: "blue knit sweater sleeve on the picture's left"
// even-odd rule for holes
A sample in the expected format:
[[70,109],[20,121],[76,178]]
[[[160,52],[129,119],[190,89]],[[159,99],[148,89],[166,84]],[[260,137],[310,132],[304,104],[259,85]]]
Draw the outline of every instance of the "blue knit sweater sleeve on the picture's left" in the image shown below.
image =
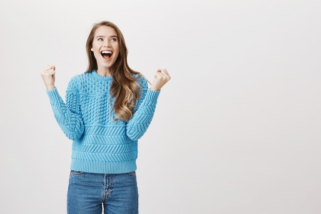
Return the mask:
[[73,77],[68,84],[66,103],[56,88],[47,90],[47,94],[58,125],[70,140],[79,139],[84,132],[84,122],[80,110],[76,78]]

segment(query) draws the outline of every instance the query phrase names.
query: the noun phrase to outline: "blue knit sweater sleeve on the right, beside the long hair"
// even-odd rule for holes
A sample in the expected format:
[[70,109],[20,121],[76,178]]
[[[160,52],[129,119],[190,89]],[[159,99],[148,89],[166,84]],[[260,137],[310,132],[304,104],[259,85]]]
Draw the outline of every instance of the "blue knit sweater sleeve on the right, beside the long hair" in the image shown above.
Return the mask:
[[127,122],[126,134],[131,140],[138,140],[147,131],[149,124],[151,123],[159,91],[153,91],[148,89],[147,81],[142,80],[143,94],[137,101],[135,113],[132,118]]

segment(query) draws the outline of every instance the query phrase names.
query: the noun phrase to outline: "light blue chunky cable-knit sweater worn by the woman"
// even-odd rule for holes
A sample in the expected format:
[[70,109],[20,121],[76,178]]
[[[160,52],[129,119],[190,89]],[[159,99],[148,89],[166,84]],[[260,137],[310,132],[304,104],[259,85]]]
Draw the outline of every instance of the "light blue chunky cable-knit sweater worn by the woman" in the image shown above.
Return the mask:
[[73,141],[71,170],[91,173],[126,173],[136,170],[137,140],[154,115],[160,91],[143,91],[128,122],[116,122],[111,112],[111,76],[92,71],[74,76],[66,91],[66,103],[57,89],[47,90],[55,119]]

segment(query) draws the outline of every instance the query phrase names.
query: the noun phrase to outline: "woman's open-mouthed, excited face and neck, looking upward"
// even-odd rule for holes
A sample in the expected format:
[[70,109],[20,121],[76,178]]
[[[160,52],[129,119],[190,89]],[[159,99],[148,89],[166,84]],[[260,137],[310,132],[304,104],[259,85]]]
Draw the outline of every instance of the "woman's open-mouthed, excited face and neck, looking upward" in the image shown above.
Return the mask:
[[98,27],[95,31],[91,51],[93,51],[97,61],[97,72],[110,74],[110,68],[119,54],[119,44],[115,29],[109,26]]

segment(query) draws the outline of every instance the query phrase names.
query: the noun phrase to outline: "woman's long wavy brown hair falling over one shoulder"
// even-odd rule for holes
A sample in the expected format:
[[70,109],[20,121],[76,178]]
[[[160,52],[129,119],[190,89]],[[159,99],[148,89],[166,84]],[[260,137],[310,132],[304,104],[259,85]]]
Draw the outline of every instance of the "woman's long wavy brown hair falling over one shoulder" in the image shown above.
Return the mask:
[[[139,72],[132,70],[127,64],[127,47],[124,36],[119,28],[108,21],[102,21],[93,25],[86,43],[86,52],[88,56],[88,68],[86,73],[97,69],[97,61],[93,52],[91,51],[94,34],[98,27],[108,26],[115,29],[118,37],[119,54],[115,63],[111,67],[112,83],[110,86],[111,98],[114,99],[112,103],[112,110],[114,110],[116,118],[121,121],[129,121],[133,115],[133,109],[139,96],[142,95],[142,87],[137,83],[142,75]],[[140,93],[141,91],[141,93]]]

